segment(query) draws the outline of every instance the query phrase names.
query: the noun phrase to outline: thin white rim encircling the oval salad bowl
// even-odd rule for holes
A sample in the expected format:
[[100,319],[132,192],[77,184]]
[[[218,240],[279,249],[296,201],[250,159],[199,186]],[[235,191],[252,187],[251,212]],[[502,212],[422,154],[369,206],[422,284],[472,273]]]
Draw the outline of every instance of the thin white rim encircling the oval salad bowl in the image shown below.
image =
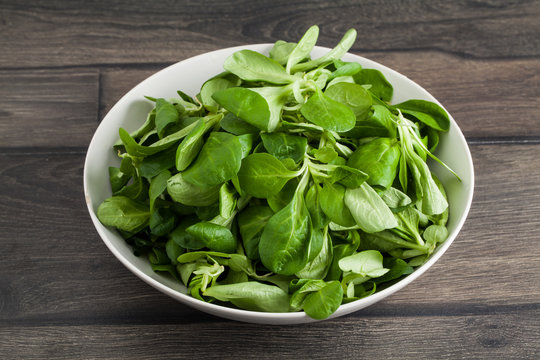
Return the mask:
[[[270,47],[273,46],[271,43],[260,43],[260,44],[247,44],[247,45],[240,45],[240,46],[233,46],[228,48],[222,48],[206,53],[202,53],[190,58],[186,58],[184,60],[181,60],[179,62],[176,62],[174,64],[171,64],[155,73],[150,75],[149,77],[145,78],[143,81],[138,83],[135,87],[131,88],[129,91],[127,91],[116,103],[111,107],[111,109],[108,111],[108,113],[103,117],[102,121],[96,128],[92,139],[90,141],[90,144],[88,146],[88,150],[85,156],[85,162],[84,162],[84,171],[83,171],[83,187],[84,187],[84,195],[85,200],[87,204],[87,208],[90,214],[90,217],[92,219],[92,222],[94,224],[94,227],[96,228],[98,234],[100,235],[100,238],[105,243],[107,248],[113,253],[113,255],[126,267],[128,268],[132,273],[134,273],[137,277],[142,279],[147,284],[151,285],[152,287],[156,288],[157,290],[171,296],[172,298],[181,301],[182,303],[191,306],[192,308],[195,308],[197,310],[216,315],[222,318],[227,318],[231,320],[236,321],[243,321],[243,322],[250,322],[250,323],[261,323],[261,324],[298,324],[298,323],[306,323],[306,322],[315,322],[320,320],[315,320],[310,317],[308,317],[303,311],[299,312],[286,312],[286,313],[275,313],[275,312],[258,312],[258,311],[250,311],[250,310],[243,310],[243,309],[237,309],[232,307],[226,307],[222,305],[212,304],[203,302],[201,300],[198,300],[196,298],[193,298],[192,296],[188,294],[184,294],[180,291],[177,291],[175,289],[170,288],[169,286],[155,280],[154,278],[150,277],[148,274],[146,274],[144,271],[139,269],[135,264],[133,264],[129,259],[127,259],[121,252],[114,246],[112,241],[108,238],[108,234],[105,233],[105,227],[101,224],[101,222],[98,220],[96,213],[94,211],[92,201],[91,201],[91,194],[89,194],[88,190],[88,183],[89,183],[89,162],[90,162],[90,154],[92,153],[92,149],[97,146],[98,142],[98,133],[100,128],[102,128],[104,123],[107,121],[109,114],[111,114],[112,110],[118,106],[119,103],[125,102],[132,92],[135,92],[137,89],[140,89],[144,87],[147,83],[152,82],[154,78],[158,77],[160,74],[164,72],[174,71],[175,67],[181,66],[181,64],[187,62],[187,61],[197,61],[198,59],[204,58],[204,57],[215,57],[215,56],[223,56],[223,53],[233,53],[238,50],[243,49],[251,49],[259,52],[267,52]],[[328,51],[330,50],[327,47],[323,46],[315,46],[314,51]],[[435,97],[433,97],[427,90],[425,90],[422,86],[417,84],[416,82],[410,80],[405,75],[397,72],[396,70],[393,70],[383,64],[380,64],[376,61],[370,60],[368,58],[365,58],[363,56],[353,54],[348,52],[344,57],[354,58],[356,61],[361,60],[364,64],[367,64],[369,67],[375,67],[381,70],[385,75],[387,73],[391,73],[393,76],[401,78],[402,80],[405,80],[407,82],[411,82],[414,86],[418,87],[421,91],[423,91],[426,96],[431,98],[431,101],[436,102],[441,107],[444,108],[442,104],[439,103]],[[202,84],[200,84],[202,86]],[[447,111],[445,109],[445,111]],[[347,303],[342,304],[340,307],[334,312],[331,316],[329,316],[327,319],[332,319],[336,317],[340,317],[343,315],[350,314],[352,312],[361,310],[367,306],[370,306],[389,295],[395,293],[396,291],[401,290],[411,282],[413,282],[415,279],[420,277],[424,272],[427,271],[435,262],[439,260],[439,258],[446,252],[446,250],[450,247],[450,245],[453,243],[459,232],[461,231],[461,228],[463,227],[465,220],[468,216],[472,200],[473,200],[473,193],[474,193],[474,165],[472,162],[472,156],[470,153],[470,149],[467,145],[467,142],[465,140],[465,137],[459,128],[458,124],[452,117],[452,115],[447,111],[451,128],[453,127],[455,130],[455,136],[457,136],[457,139],[460,142],[460,146],[463,147],[465,150],[466,159],[464,159],[467,162],[467,168],[470,169],[470,173],[468,176],[470,177],[470,187],[467,190],[467,196],[466,196],[466,204],[464,207],[464,211],[462,214],[460,214],[459,220],[456,223],[455,229],[453,232],[451,232],[448,236],[448,238],[438,246],[437,251],[434,252],[429,259],[422,264],[421,266],[417,267],[413,273],[407,275],[405,278],[401,279],[400,281],[396,282],[395,284],[380,290],[368,297]]]

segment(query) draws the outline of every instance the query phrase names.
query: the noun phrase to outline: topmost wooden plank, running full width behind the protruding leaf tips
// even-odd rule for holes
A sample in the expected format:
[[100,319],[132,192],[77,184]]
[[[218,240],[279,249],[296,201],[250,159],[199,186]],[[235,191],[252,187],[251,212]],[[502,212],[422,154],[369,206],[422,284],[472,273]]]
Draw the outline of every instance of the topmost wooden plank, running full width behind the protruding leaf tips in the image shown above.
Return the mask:
[[[356,51],[437,50],[465,57],[540,55],[540,3],[363,1],[2,1],[0,67],[171,63],[218,48],[297,41],[311,24],[333,46],[351,27]],[[55,49],[51,51],[51,49]]]

